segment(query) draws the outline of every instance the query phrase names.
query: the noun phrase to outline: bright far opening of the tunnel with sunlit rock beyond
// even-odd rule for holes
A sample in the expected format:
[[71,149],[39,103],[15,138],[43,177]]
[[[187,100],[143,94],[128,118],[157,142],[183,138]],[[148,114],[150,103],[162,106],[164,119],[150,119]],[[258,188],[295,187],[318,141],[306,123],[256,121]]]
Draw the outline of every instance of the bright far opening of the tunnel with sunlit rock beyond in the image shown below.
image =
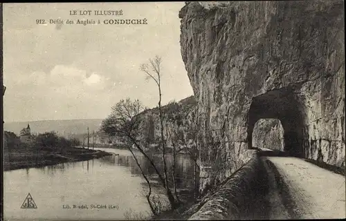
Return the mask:
[[252,146],[284,151],[284,128],[280,119],[259,119],[253,128]]

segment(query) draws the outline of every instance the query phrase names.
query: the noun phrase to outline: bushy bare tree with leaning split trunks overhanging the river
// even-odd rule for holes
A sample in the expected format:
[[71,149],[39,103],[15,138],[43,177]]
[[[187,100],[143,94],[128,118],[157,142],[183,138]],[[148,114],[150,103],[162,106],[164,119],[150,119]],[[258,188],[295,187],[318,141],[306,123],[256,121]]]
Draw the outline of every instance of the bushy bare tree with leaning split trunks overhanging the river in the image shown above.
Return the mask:
[[[167,182],[165,182],[165,178],[161,175],[160,171],[158,171],[158,168],[154,164],[154,160],[152,160],[147,153],[145,153],[145,150],[143,146],[140,145],[141,138],[140,135],[145,130],[143,127],[143,115],[140,115],[140,113],[144,110],[143,105],[140,103],[139,100],[135,100],[134,102],[131,102],[129,98],[126,100],[120,100],[115,106],[112,107],[111,114],[102,121],[101,129],[105,133],[119,137],[122,141],[126,142],[128,144],[128,149],[131,151],[132,155],[134,156],[136,160],[136,156],[134,155],[131,146],[135,146],[140,153],[143,154],[145,159],[151,164],[153,167],[155,173],[158,175],[158,179],[163,184],[163,188],[166,190],[167,198],[170,200],[170,204],[172,207],[175,206],[175,200],[174,197],[169,189],[169,186],[167,185]],[[136,160],[137,165],[140,168],[140,165],[138,161]],[[150,182],[145,176],[145,173],[143,173],[143,170],[140,168],[143,177],[149,184],[149,193],[151,193],[151,187]],[[149,195],[149,196],[148,196]],[[150,201],[150,194],[147,195],[148,202]],[[173,200],[172,200],[173,199]],[[149,206],[152,204],[149,202]],[[153,213],[155,213],[153,211]]]

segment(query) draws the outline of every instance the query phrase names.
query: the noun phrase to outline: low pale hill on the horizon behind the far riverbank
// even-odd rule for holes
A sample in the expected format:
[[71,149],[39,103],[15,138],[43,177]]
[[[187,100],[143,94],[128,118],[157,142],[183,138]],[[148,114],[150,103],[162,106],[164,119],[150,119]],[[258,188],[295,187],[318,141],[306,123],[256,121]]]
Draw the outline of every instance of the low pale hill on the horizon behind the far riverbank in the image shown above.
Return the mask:
[[19,135],[22,128],[30,124],[31,133],[44,133],[55,131],[60,135],[81,134],[89,131],[98,131],[102,119],[62,119],[62,120],[40,120],[34,122],[5,122],[3,124],[4,131],[11,131]]

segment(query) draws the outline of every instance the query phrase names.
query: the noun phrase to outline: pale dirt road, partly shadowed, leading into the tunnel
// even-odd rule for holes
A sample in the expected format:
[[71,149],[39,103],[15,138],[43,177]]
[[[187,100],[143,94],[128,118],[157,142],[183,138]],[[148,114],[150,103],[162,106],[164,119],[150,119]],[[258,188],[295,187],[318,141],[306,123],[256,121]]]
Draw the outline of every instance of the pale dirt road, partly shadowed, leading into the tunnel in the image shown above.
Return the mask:
[[262,160],[269,175],[269,219],[346,217],[343,175],[296,157],[263,156]]

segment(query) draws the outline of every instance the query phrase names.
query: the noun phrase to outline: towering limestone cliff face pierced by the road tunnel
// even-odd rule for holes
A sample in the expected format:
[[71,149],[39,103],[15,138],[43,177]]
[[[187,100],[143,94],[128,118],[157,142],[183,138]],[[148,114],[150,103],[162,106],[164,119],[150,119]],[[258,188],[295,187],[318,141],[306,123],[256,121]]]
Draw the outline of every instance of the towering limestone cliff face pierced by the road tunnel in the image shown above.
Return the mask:
[[345,166],[343,1],[187,2],[179,17],[206,182],[248,161],[266,118],[291,155]]

